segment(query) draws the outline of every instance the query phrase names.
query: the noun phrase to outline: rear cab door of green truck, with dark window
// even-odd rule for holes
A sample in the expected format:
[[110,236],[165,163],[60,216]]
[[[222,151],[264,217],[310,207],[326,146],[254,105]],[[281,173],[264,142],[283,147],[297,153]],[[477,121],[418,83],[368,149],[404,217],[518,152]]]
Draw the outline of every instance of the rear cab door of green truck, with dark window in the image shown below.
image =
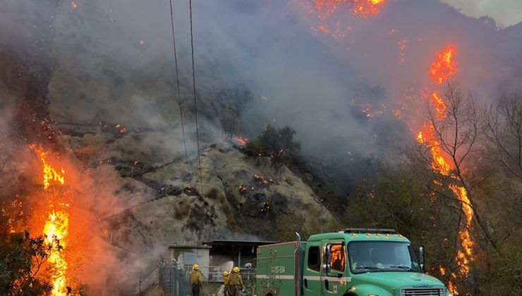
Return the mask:
[[303,260],[303,295],[317,296],[321,294],[321,244],[320,242],[308,242],[305,248]]

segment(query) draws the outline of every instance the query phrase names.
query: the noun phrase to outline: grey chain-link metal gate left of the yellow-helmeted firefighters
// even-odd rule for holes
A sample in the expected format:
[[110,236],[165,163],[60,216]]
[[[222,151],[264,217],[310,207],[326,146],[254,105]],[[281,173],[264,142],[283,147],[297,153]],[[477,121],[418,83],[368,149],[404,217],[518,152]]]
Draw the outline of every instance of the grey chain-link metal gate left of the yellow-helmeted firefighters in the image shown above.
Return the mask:
[[187,272],[175,265],[165,265],[159,268],[159,287],[165,296],[190,296]]

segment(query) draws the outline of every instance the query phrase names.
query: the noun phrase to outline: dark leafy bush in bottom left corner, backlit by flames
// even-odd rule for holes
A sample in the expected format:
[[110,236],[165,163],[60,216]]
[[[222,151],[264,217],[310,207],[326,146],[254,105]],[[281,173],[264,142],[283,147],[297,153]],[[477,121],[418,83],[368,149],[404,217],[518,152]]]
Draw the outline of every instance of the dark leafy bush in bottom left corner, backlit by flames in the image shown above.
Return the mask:
[[42,276],[42,266],[52,248],[43,236],[32,238],[27,231],[1,242],[0,295],[48,295],[52,285]]

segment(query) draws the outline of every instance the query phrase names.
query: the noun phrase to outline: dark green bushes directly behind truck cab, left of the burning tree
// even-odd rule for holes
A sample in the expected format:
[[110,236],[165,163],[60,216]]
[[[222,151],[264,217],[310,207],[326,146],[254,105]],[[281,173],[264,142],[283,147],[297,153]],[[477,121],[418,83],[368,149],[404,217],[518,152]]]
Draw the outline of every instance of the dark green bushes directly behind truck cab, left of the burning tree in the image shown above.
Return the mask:
[[365,177],[349,197],[346,211],[346,225],[395,228],[425,245],[426,269],[437,278],[443,278],[439,266],[456,269],[458,221],[458,202],[430,191],[406,165]]

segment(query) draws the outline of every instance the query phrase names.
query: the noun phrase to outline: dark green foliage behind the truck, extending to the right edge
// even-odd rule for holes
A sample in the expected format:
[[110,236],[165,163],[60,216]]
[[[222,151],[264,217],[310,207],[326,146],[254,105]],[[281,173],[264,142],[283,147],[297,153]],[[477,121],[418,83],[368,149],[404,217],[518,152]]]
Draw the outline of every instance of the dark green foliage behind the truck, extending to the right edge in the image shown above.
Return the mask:
[[[484,213],[482,218],[495,233],[502,252],[509,254],[508,265],[487,244],[480,228],[474,224],[471,235],[475,245],[470,273],[467,277],[459,276],[455,257],[461,248],[458,239],[459,222],[464,219],[461,203],[448,189],[448,184],[454,181],[442,178],[430,168],[394,164],[366,175],[348,197],[343,223],[353,227],[396,228],[414,244],[425,245],[427,272],[444,283],[451,280],[460,295],[497,295],[498,291],[504,291],[502,295],[520,295],[516,282],[520,269],[516,271],[516,266],[522,266],[519,247],[522,221],[518,217],[522,204],[520,195],[512,194],[514,187],[520,184],[513,178],[506,180],[502,175],[483,180],[491,171],[487,166],[475,167],[474,178],[482,180],[475,187],[475,198],[478,210]],[[446,269],[444,275],[441,266]],[[452,278],[451,273],[455,273],[456,278]]]

